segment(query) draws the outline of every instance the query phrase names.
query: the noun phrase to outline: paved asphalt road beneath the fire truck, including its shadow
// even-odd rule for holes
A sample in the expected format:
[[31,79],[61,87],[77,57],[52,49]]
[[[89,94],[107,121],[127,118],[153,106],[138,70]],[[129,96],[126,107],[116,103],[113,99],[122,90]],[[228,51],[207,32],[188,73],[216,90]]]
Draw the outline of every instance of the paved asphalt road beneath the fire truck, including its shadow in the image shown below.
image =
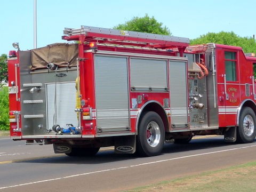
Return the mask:
[[0,191],[123,191],[256,160],[256,142],[227,145],[222,137],[166,144],[155,157],[100,151],[95,157],[54,154],[0,138]]

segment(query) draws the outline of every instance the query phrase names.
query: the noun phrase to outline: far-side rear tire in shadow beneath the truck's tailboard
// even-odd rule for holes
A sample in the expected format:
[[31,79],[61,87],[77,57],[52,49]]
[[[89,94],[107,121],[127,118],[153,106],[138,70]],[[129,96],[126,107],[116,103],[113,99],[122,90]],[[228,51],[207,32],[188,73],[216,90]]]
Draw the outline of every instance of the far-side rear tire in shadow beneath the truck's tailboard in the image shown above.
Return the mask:
[[71,150],[71,153],[66,154],[70,157],[85,157],[85,156],[94,156],[98,153],[100,150],[99,147],[95,148],[79,148],[79,147],[73,147]]

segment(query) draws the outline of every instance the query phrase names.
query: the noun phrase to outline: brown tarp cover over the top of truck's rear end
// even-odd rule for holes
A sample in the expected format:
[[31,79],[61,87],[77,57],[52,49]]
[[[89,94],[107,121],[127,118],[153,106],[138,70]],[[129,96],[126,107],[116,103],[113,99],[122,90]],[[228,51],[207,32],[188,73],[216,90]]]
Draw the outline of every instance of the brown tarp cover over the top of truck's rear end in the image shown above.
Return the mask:
[[31,50],[31,70],[44,69],[48,63],[58,67],[76,66],[78,45],[68,43],[55,43]]

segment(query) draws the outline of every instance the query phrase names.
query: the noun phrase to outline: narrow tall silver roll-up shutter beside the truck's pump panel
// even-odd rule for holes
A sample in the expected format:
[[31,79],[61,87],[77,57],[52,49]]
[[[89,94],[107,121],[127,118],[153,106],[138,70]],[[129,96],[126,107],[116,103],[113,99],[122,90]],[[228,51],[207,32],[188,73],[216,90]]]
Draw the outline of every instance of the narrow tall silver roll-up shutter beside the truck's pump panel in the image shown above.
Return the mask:
[[170,61],[171,126],[188,126],[187,67],[185,61]]

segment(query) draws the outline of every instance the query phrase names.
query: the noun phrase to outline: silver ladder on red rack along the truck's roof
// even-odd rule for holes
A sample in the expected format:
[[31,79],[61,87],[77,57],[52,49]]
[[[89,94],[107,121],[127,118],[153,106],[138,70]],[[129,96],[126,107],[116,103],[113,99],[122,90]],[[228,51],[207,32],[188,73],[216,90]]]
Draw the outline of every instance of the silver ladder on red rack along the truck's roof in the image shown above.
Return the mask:
[[185,49],[189,38],[141,33],[136,31],[81,26],[79,29],[65,28],[62,39],[67,41],[98,42],[119,45],[152,47],[156,49]]

